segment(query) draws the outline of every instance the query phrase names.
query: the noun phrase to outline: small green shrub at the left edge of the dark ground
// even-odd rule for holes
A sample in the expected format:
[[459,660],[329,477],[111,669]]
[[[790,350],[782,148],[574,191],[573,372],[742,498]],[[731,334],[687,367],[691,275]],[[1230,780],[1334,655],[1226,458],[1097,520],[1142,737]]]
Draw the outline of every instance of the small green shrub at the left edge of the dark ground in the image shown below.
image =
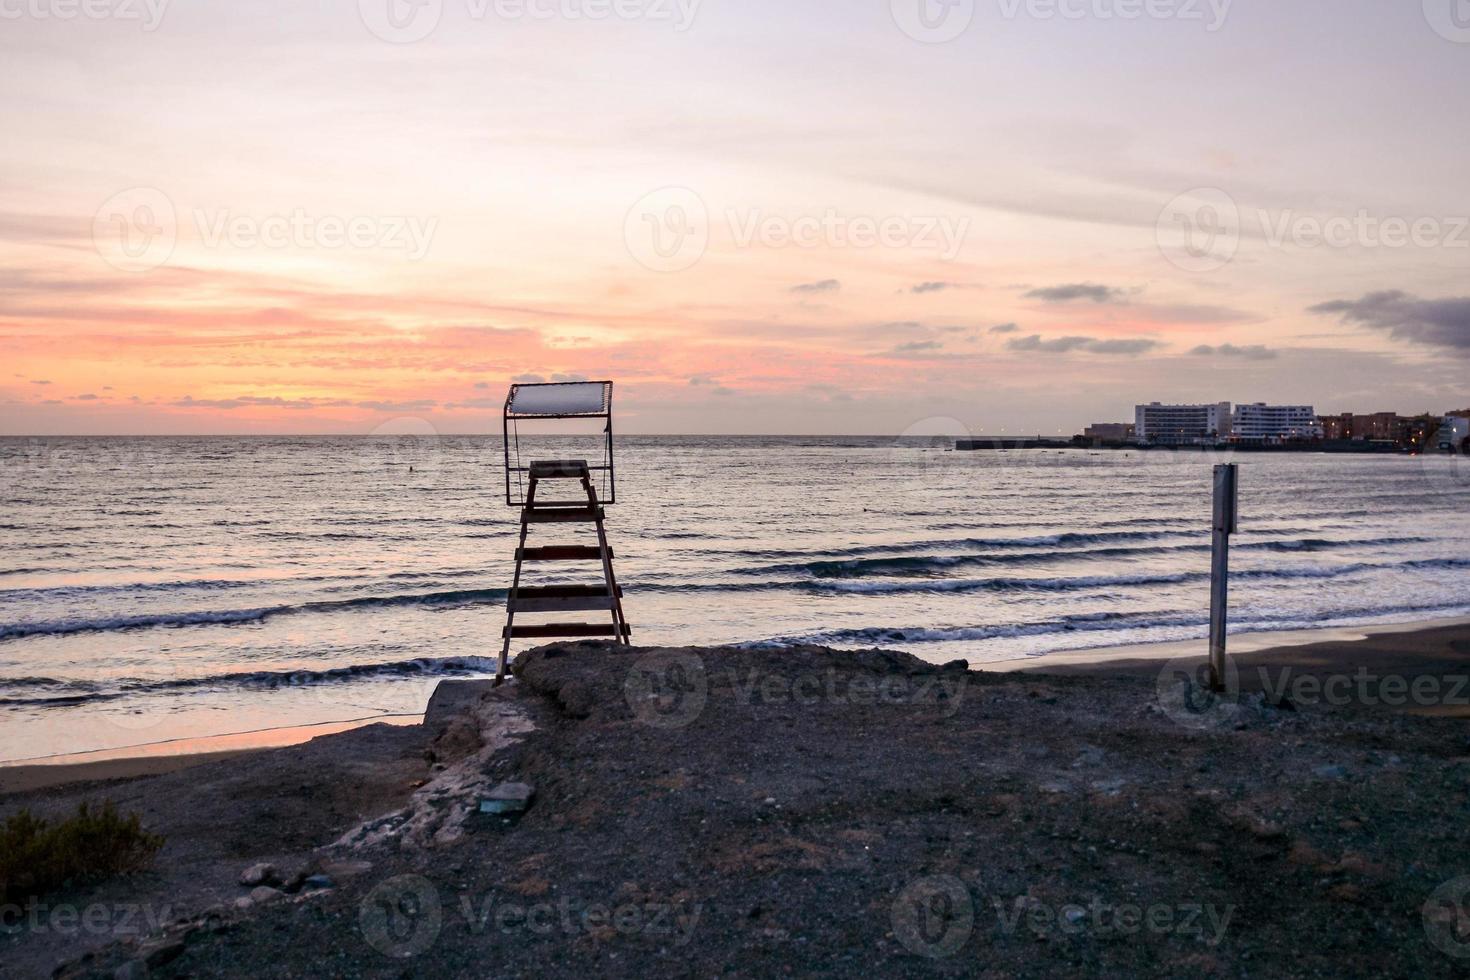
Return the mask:
[[112,802],[82,804],[59,821],[22,810],[0,824],[0,899],[140,871],[162,846],[137,814],[123,817]]

